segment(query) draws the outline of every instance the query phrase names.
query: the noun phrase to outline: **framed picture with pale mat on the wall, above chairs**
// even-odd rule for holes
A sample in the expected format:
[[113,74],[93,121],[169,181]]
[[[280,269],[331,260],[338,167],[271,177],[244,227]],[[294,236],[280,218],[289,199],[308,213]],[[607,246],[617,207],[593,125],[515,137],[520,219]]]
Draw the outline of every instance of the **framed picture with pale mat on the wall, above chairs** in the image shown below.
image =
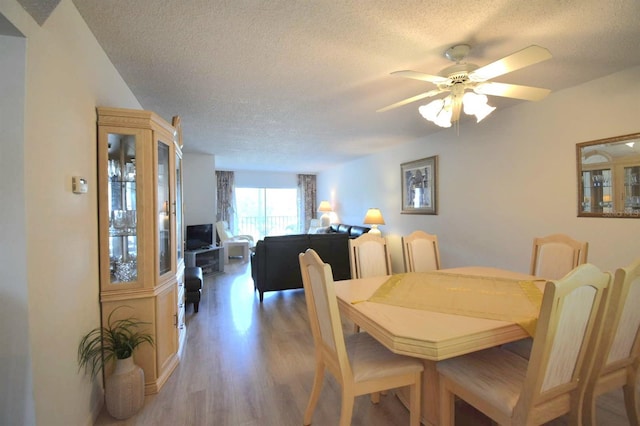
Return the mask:
[[438,156],[400,165],[403,214],[438,214]]

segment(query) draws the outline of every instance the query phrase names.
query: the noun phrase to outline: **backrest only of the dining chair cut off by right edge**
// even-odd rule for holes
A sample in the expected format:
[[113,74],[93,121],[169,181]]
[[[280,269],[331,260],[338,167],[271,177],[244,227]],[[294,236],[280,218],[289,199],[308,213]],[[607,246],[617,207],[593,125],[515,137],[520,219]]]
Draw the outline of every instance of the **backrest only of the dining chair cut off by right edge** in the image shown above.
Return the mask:
[[640,356],[640,259],[616,271],[610,292],[591,382],[626,369]]

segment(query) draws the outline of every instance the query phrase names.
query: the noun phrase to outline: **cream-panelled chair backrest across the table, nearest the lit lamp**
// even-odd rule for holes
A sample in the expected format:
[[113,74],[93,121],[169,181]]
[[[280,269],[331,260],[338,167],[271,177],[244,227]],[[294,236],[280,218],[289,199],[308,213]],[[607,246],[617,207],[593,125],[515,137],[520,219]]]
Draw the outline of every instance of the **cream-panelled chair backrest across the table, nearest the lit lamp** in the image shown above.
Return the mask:
[[387,239],[366,233],[349,240],[351,278],[391,275],[391,256]]

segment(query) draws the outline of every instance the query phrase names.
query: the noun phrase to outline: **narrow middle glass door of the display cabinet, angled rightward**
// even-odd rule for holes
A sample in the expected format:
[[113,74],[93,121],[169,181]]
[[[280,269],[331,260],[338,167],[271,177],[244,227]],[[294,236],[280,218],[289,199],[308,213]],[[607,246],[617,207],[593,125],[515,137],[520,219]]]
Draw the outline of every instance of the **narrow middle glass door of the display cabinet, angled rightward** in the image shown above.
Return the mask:
[[171,271],[170,147],[158,141],[158,275]]

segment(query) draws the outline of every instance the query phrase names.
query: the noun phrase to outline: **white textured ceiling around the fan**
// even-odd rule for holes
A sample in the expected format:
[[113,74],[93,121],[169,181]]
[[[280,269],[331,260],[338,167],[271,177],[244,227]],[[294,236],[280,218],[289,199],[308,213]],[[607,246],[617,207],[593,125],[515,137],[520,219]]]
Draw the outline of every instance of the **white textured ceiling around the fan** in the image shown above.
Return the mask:
[[546,47],[495,81],[552,91],[640,64],[638,0],[73,2],[143,108],[180,115],[184,151],[227,170],[313,173],[441,131],[426,102],[375,111],[435,88],[389,73],[437,74],[454,44],[480,66]]

